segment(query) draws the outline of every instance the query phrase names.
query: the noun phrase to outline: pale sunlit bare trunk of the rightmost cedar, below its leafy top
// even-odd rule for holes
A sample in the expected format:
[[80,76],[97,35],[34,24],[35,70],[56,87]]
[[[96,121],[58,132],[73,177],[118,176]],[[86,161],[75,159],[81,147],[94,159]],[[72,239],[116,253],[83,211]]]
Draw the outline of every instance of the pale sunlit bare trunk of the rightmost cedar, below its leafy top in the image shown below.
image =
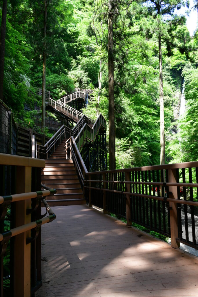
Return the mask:
[[164,137],[164,94],[163,94],[163,75],[162,75],[162,54],[161,54],[161,35],[158,36],[159,42],[159,102],[160,102],[160,164],[165,164],[165,137]]

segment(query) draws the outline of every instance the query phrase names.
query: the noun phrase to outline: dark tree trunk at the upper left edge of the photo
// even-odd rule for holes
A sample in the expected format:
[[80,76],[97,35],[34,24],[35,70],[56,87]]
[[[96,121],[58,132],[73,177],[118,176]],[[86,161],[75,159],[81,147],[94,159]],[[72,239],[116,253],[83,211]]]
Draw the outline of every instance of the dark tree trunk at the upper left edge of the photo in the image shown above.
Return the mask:
[[1,100],[3,100],[3,85],[4,85],[6,18],[7,18],[7,0],[3,0],[2,17],[1,17],[1,40],[0,40],[0,99]]

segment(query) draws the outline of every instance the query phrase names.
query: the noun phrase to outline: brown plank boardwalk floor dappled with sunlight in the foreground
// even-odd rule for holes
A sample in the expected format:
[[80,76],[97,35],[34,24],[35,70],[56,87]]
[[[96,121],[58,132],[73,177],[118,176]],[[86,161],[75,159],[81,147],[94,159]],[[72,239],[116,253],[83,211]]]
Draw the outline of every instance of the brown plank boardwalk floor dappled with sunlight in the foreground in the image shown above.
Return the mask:
[[198,296],[198,258],[87,205],[53,207],[42,226],[36,297]]

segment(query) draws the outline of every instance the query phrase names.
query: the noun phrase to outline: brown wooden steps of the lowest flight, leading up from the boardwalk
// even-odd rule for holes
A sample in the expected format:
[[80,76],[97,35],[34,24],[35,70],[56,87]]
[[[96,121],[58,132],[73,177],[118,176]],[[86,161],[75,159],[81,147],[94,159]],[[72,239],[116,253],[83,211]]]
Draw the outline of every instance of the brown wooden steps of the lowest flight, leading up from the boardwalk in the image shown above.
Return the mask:
[[54,196],[47,197],[50,206],[86,204],[73,160],[66,160],[65,142],[66,139],[45,160],[46,167],[42,170],[42,184],[57,190]]

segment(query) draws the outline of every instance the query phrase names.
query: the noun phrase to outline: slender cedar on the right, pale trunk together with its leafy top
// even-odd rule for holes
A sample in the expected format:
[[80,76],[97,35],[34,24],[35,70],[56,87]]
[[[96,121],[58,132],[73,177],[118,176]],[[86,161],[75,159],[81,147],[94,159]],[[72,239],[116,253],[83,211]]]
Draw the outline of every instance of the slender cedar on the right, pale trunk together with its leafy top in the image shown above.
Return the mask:
[[175,9],[179,9],[184,6],[183,0],[176,0],[174,2],[166,0],[149,0],[148,11],[157,19],[158,23],[158,46],[159,46],[159,101],[160,101],[160,164],[165,164],[165,137],[164,137],[164,93],[163,93],[163,70],[162,70],[162,52],[161,52],[161,37],[163,36],[163,25],[168,20],[164,20],[163,17],[172,16]]

